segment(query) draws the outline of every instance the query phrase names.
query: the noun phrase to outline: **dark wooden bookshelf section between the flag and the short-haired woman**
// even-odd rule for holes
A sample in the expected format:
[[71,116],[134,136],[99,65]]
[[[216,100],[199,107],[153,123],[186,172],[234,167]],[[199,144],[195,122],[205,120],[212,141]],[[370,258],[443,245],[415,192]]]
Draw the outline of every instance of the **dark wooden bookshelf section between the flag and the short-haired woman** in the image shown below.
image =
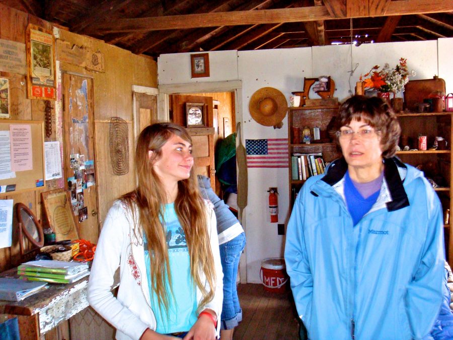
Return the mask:
[[[295,176],[295,169],[293,169],[294,164],[292,164],[293,157],[307,157],[308,154],[314,154],[312,155],[313,160],[322,158],[322,160],[317,161],[318,164],[315,163],[315,167],[319,166],[319,168],[316,168],[316,171],[318,172],[319,169],[322,172],[324,169],[323,164],[326,166],[326,163],[333,161],[341,155],[337,145],[333,142],[328,133],[330,125],[333,123],[333,119],[337,114],[338,105],[288,108],[288,182],[291,207],[297,192],[306,181],[306,179],[302,179],[302,174],[299,174],[299,169],[297,169],[297,175],[300,176],[300,179],[293,179],[293,175]],[[310,130],[310,144],[304,143],[304,128],[307,133],[308,130]],[[318,140],[314,140],[315,134],[316,137],[319,138]],[[308,178],[310,177],[310,170],[308,169],[307,164],[306,167],[307,172],[304,177]]]

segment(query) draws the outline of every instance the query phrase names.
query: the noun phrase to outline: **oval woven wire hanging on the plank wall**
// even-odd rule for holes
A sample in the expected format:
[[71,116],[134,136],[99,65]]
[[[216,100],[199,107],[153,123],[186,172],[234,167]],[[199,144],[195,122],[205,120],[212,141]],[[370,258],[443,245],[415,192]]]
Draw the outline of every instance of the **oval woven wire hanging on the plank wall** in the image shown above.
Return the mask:
[[129,172],[127,122],[120,117],[110,118],[110,160],[115,175],[125,175]]

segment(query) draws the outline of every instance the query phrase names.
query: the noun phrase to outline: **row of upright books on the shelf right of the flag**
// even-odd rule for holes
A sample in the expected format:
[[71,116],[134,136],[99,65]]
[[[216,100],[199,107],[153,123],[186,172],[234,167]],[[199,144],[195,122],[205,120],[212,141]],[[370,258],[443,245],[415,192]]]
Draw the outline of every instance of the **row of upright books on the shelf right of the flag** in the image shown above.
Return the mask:
[[311,176],[324,173],[326,164],[322,153],[292,154],[291,177],[293,180],[305,180]]

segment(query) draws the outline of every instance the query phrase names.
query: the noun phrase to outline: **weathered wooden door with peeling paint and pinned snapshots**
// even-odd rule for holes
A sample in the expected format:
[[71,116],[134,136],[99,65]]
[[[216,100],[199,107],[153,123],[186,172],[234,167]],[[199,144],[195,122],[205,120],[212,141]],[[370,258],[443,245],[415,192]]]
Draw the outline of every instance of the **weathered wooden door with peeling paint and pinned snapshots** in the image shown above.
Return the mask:
[[93,79],[63,73],[64,174],[79,237],[98,241]]

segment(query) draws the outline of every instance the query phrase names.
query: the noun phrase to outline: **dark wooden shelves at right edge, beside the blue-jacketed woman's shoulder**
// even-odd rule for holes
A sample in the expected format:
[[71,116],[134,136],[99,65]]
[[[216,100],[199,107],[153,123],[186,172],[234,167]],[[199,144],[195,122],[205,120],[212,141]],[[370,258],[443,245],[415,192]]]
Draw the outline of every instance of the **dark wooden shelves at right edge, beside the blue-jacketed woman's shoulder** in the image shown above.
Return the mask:
[[[444,217],[445,251],[450,263],[453,261],[453,230],[449,228],[449,212],[453,211],[451,199],[453,183],[453,163],[451,162],[451,142],[453,131],[451,129],[451,112],[401,112],[396,114],[401,125],[401,140],[399,146],[409,151],[398,151],[397,156],[404,162],[422,170],[425,177],[433,185],[442,204]],[[419,149],[419,135],[426,136],[428,150]],[[437,148],[433,145],[436,137]],[[439,143],[440,142],[440,143]],[[412,150],[411,150],[412,149]],[[431,150],[429,150],[431,149]]]

